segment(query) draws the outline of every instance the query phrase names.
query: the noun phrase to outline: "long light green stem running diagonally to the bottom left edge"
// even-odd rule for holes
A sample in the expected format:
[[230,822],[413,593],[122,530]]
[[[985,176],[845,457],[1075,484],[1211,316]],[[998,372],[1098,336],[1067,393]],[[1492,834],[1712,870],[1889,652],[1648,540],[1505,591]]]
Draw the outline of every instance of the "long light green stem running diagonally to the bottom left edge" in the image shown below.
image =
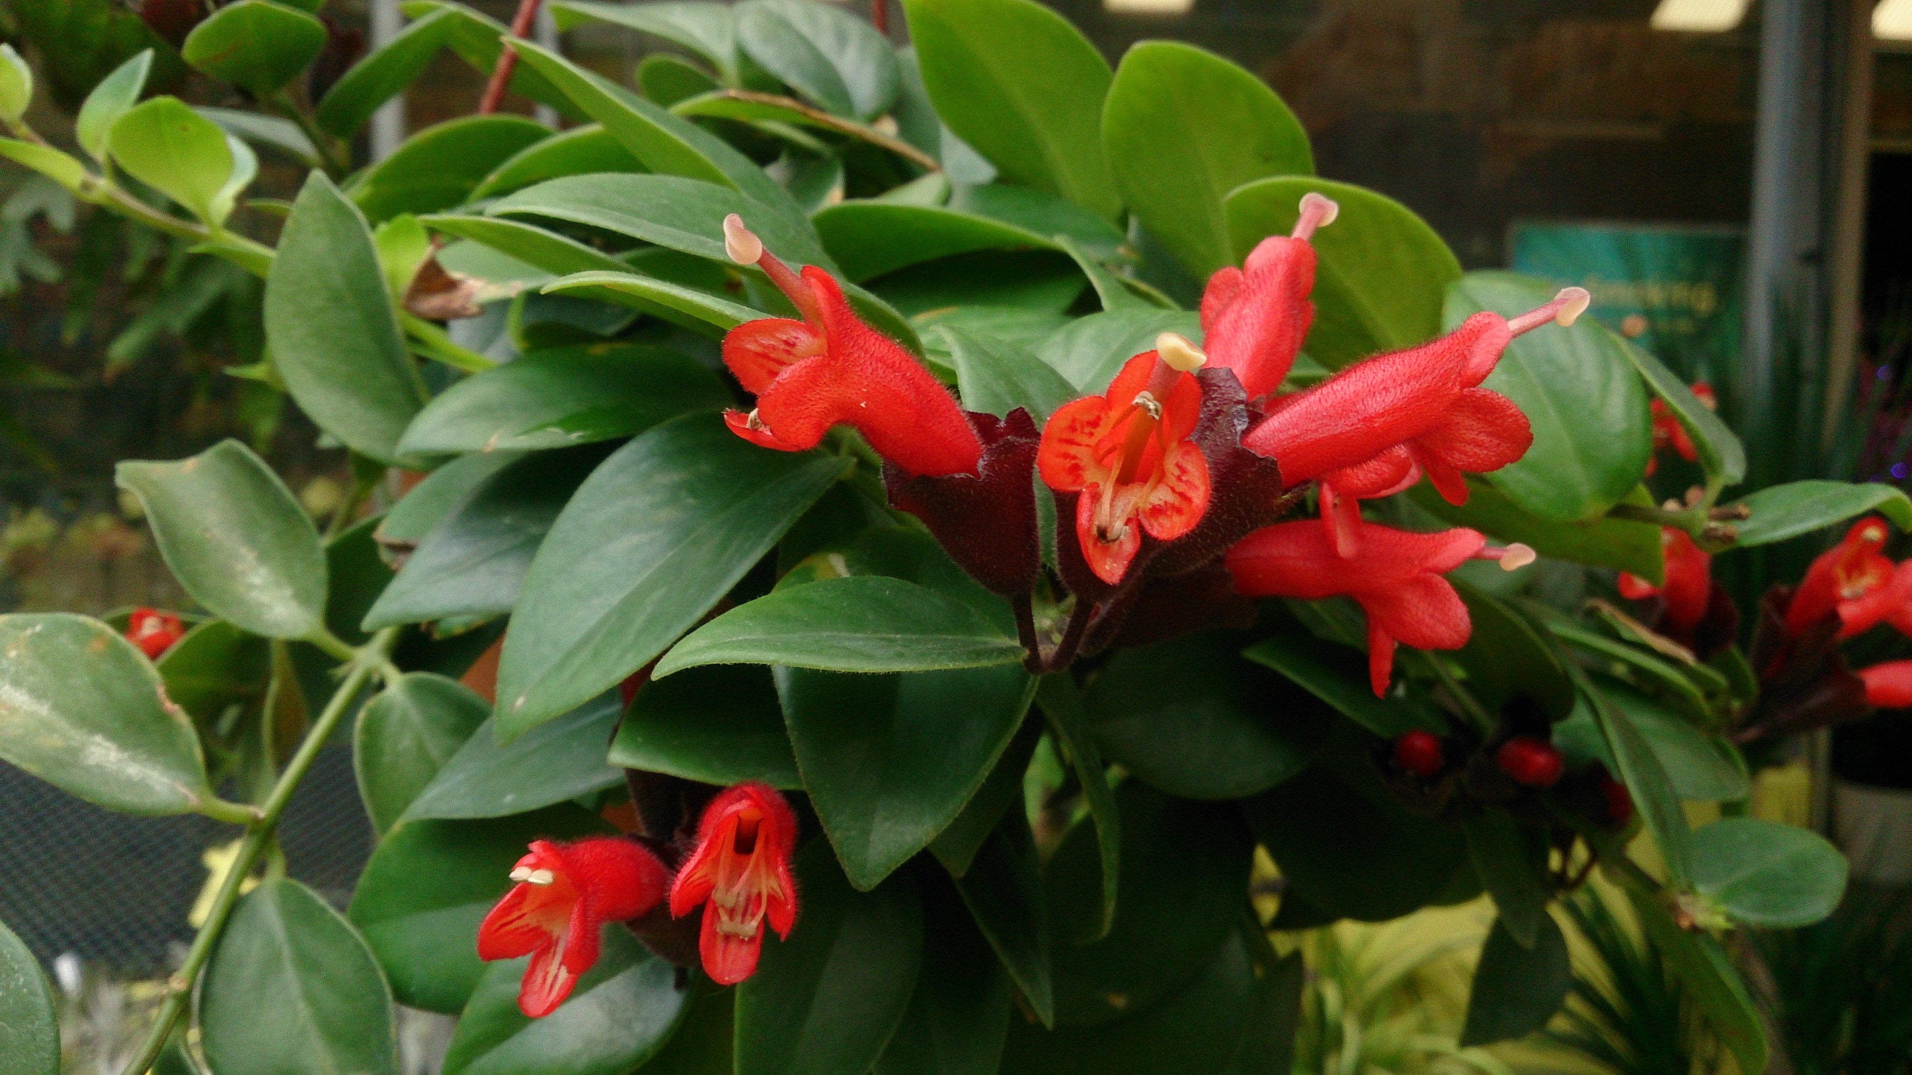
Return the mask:
[[279,775],[279,782],[273,784],[272,794],[266,796],[264,805],[260,805],[260,817],[247,828],[245,844],[239,845],[239,855],[233,859],[231,868],[226,872],[226,880],[220,882],[218,895],[212,897],[212,910],[206,914],[206,924],[201,926],[199,935],[193,937],[193,947],[185,953],[185,962],[180,964],[180,972],[168,981],[166,1000],[159,1006],[159,1016],[153,1021],[153,1029],[147,1031],[145,1042],[140,1052],[134,1054],[132,1062],[122,1069],[122,1075],[145,1075],[153,1062],[159,1060],[159,1052],[166,1048],[166,1039],[172,1037],[172,1027],[178,1025],[180,1016],[185,1012],[185,1004],[193,995],[193,981],[199,979],[199,972],[205,970],[206,960],[212,956],[212,947],[218,943],[220,933],[226,932],[226,922],[231,918],[233,905],[239,901],[239,888],[245,884],[247,874],[258,865],[260,855],[273,842],[273,832],[279,826],[279,815],[285,813],[285,803],[293,801],[293,792],[298,790],[300,780],[312,771],[312,763],[319,759],[319,752],[338,731],[338,721],[346,717],[352,710],[352,700],[358,698],[359,689],[371,679],[380,662],[388,662],[392,645],[398,641],[398,627],[386,627],[373,635],[365,643],[363,650],[352,650],[352,671],[346,675],[338,691],[333,692],[333,700],[325,704],[325,712],[319,713],[317,723],[306,735],[306,740],[298,744],[298,752],[293,759],[285,763],[285,773]]

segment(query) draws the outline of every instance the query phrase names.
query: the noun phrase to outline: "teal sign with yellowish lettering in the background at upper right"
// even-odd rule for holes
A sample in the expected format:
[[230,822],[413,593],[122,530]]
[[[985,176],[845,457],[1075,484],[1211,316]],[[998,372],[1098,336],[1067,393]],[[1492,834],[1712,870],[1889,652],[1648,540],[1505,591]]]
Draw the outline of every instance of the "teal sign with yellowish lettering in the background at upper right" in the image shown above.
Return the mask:
[[1728,379],[1740,352],[1744,228],[1516,220],[1509,262],[1585,287],[1595,318],[1686,381]]

